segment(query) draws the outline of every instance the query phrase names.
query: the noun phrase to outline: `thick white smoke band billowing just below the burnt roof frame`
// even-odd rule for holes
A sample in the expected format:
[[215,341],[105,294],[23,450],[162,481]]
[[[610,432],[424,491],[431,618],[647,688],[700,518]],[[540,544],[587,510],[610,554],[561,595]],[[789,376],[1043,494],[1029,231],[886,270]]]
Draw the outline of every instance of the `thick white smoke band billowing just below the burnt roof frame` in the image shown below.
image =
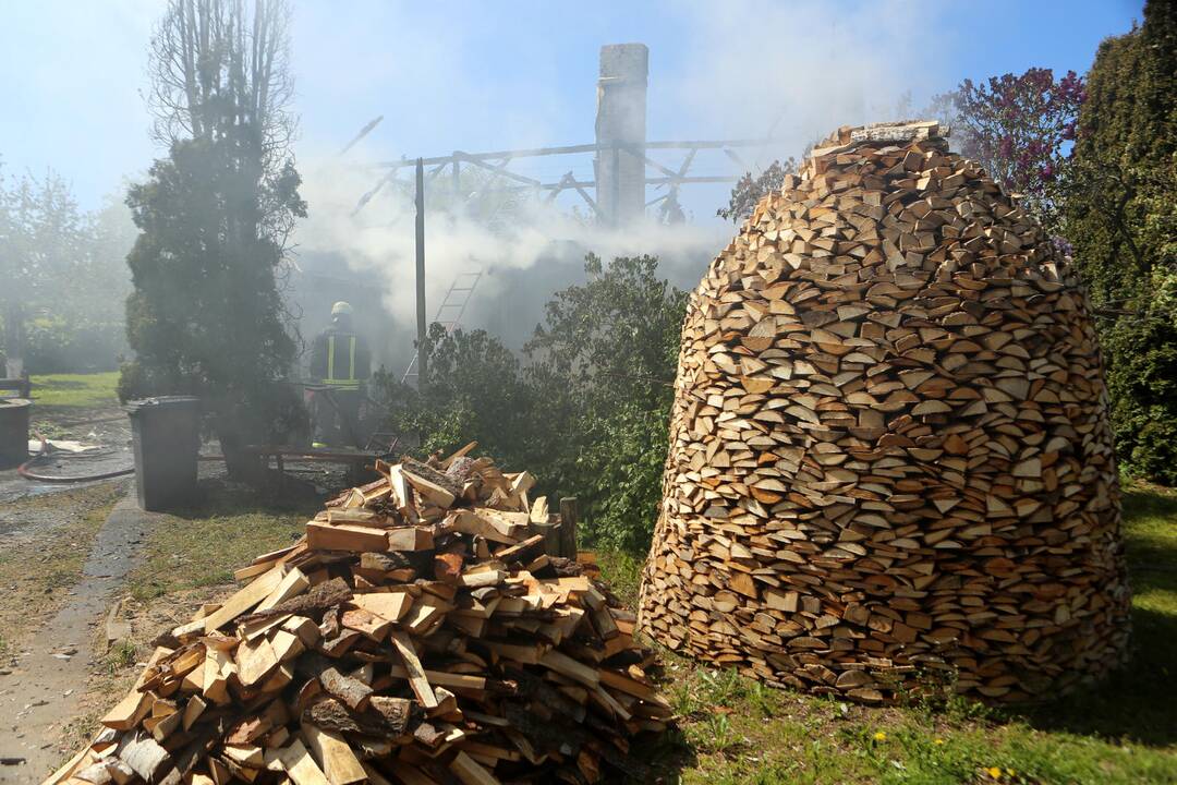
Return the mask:
[[[357,212],[360,195],[381,177],[384,171],[339,162],[310,167],[302,189],[311,206],[310,215],[299,224],[294,240],[302,257],[339,254],[360,278],[380,282],[385,307],[399,324],[407,326],[413,324],[415,312],[415,207],[410,191],[413,172],[411,168],[403,171],[398,185],[384,186]],[[546,205],[528,194],[498,208],[493,207],[494,194],[484,195],[492,208],[470,215],[450,204],[445,180],[426,185],[427,193],[434,188],[439,192],[437,201],[446,204],[437,208],[431,204],[426,211],[428,315],[433,318],[458,275],[483,271],[485,277],[478,291],[481,307],[467,314],[476,320],[473,324],[466,320],[472,326],[483,326],[477,324],[477,314],[486,312],[487,299],[525,299],[534,306],[554,291],[554,287],[518,291],[514,278],[505,273],[528,270],[540,262],[565,262],[563,274],[566,275],[579,270],[585,252],[605,259],[651,253],[665,259],[669,274],[678,272],[674,277],[686,282],[697,278],[694,267],[714,253],[729,232],[714,221],[667,226],[650,220],[624,229],[606,229],[584,213],[573,213],[561,205]],[[570,260],[572,265],[566,264]],[[684,266],[691,270],[684,272]],[[536,275],[537,281],[541,278],[551,286],[547,277]],[[505,288],[508,279],[510,291]],[[560,285],[567,282],[565,278]]]

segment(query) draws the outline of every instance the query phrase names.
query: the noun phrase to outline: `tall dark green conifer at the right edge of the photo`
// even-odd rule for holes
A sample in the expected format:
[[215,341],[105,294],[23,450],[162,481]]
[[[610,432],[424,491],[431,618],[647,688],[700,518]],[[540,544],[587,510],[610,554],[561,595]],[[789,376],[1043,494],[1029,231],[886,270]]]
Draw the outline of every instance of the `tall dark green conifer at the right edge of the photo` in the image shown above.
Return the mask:
[[1177,484],[1177,7],[1149,2],[1088,75],[1064,233],[1100,314],[1121,460]]

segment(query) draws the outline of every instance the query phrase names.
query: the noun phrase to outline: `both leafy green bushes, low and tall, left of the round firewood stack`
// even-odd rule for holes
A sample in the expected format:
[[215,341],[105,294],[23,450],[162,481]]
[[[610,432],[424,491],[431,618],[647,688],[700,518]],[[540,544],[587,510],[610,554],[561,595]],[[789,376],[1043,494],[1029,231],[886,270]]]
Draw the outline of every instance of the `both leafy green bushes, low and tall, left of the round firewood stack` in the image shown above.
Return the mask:
[[470,439],[540,491],[576,495],[588,543],[630,552],[650,544],[666,460],[685,295],[653,257],[594,255],[588,280],[547,304],[521,364],[483,331],[433,325],[424,393],[378,374],[391,426],[426,452]]

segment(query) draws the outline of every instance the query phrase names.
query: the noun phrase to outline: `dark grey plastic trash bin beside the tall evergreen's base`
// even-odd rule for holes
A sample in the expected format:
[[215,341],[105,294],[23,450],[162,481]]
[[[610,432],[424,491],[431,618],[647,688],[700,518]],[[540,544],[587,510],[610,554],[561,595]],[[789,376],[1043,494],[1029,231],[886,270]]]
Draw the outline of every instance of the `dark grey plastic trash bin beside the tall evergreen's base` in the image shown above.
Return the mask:
[[161,395],[126,405],[135,451],[139,506],[174,510],[197,498],[200,399]]

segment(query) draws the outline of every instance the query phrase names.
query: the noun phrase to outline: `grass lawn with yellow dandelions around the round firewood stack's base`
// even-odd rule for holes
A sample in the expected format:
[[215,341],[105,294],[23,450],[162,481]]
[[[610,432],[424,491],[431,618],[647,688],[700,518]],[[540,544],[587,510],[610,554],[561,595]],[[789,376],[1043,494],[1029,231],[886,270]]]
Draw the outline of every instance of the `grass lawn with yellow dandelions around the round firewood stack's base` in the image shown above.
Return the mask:
[[[1032,710],[958,698],[869,709],[782,692],[667,654],[681,717],[647,753],[665,783],[1177,783],[1177,492],[1124,500],[1132,661]],[[637,565],[601,557],[633,601]]]

